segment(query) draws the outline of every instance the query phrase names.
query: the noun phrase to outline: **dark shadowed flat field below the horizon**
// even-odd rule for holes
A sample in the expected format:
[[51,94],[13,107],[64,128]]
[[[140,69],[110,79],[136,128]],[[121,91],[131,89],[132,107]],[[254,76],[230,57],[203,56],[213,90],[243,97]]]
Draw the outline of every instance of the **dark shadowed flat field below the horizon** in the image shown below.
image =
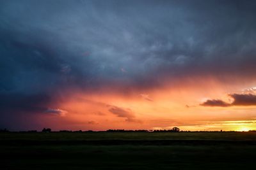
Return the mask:
[[0,169],[254,169],[256,132],[5,132]]

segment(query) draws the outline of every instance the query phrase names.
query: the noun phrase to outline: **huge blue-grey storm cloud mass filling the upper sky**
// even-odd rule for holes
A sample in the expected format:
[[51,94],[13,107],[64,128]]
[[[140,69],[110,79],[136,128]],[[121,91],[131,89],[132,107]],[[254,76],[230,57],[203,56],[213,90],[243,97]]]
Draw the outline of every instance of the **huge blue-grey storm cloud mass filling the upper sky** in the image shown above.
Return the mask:
[[[73,87],[255,78],[255,8],[255,1],[1,1],[0,94],[17,94],[22,105],[24,96]],[[2,113],[17,103],[6,101]]]

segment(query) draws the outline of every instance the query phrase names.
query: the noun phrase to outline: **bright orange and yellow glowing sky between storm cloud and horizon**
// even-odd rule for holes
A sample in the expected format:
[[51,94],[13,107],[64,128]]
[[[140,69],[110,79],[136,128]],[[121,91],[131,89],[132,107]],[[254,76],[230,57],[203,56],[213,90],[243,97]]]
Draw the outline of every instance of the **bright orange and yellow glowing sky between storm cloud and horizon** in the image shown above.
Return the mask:
[[[52,104],[65,111],[61,117],[42,115],[42,121],[53,129],[172,129],[183,131],[249,131],[256,129],[255,106],[205,107],[206,99],[228,99],[227,94],[246,87],[207,80],[184,82],[181,86],[122,92],[83,92],[73,90]],[[110,110],[110,111],[109,111]],[[116,111],[125,113],[116,114]],[[114,111],[114,113],[111,113]],[[122,114],[128,114],[126,117]]]

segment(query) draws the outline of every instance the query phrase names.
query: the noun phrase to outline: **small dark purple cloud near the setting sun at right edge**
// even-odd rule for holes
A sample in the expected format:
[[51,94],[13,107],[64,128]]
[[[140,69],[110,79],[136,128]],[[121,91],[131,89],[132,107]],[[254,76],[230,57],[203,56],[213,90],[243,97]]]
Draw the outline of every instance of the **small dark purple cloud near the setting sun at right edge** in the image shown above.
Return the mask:
[[220,99],[207,100],[200,104],[201,106],[256,106],[256,95],[254,94],[229,94],[234,101],[232,103],[225,103]]

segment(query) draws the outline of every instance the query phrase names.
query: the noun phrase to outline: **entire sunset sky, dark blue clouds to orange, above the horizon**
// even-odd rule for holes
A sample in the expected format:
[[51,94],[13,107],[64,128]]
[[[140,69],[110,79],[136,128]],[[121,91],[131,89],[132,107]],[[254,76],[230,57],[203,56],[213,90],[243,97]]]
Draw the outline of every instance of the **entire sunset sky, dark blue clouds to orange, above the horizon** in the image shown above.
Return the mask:
[[0,129],[256,129],[255,1],[0,1]]

